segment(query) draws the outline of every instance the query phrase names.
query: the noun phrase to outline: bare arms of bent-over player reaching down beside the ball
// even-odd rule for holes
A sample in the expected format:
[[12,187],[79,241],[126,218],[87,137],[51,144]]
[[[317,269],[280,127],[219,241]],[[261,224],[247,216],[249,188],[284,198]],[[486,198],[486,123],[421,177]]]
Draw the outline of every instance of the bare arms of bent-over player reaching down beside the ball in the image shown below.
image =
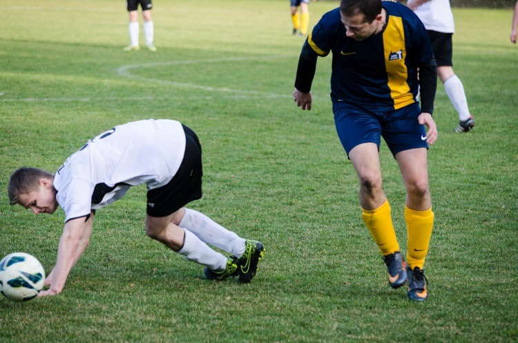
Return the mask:
[[57,262],[52,272],[45,279],[45,284],[50,284],[48,290],[42,290],[40,297],[61,293],[68,277],[68,273],[79,261],[84,250],[90,243],[90,235],[93,227],[93,213],[85,222],[85,217],[67,221],[59,239],[57,248]]

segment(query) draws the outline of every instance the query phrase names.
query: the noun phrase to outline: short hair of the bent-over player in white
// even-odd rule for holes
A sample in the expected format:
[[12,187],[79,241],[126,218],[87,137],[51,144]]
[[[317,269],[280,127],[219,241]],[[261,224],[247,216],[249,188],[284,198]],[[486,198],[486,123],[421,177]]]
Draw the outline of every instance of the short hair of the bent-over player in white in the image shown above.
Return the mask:
[[54,175],[38,168],[21,167],[16,169],[9,179],[9,204],[16,205],[19,201],[20,194],[37,189],[41,178],[52,180]]

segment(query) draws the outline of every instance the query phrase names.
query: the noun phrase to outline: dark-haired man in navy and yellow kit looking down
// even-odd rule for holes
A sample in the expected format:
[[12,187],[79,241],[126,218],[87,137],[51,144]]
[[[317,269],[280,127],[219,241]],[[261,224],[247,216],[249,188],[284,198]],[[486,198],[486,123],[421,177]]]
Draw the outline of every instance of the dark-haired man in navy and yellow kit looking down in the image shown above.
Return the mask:
[[[336,131],[358,175],[363,221],[383,255],[390,286],[399,288],[408,279],[408,297],[423,301],[428,297],[423,265],[434,221],[427,149],[437,140],[432,119],[437,66],[428,33],[399,3],[342,0],[316,24],[300,53],[293,97],[303,110],[311,110],[317,59],[329,53]],[[407,262],[382,188],[381,137],[407,191]]]

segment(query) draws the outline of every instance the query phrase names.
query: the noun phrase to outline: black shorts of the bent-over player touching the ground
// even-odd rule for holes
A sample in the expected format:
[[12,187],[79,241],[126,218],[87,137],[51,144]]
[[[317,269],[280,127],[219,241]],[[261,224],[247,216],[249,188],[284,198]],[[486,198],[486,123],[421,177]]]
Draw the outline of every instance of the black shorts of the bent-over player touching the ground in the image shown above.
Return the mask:
[[191,201],[202,198],[202,147],[196,133],[183,124],[182,127],[185,132],[184,159],[169,183],[148,191],[148,216],[169,216]]

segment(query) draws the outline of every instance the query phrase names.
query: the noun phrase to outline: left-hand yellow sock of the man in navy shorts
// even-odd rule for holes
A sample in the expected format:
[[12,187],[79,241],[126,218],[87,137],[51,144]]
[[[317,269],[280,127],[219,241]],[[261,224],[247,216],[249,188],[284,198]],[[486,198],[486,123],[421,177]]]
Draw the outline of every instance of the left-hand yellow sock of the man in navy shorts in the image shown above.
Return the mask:
[[374,242],[378,245],[381,254],[385,256],[399,251],[388,200],[376,210],[364,210],[363,208],[361,210],[363,221],[367,225]]

